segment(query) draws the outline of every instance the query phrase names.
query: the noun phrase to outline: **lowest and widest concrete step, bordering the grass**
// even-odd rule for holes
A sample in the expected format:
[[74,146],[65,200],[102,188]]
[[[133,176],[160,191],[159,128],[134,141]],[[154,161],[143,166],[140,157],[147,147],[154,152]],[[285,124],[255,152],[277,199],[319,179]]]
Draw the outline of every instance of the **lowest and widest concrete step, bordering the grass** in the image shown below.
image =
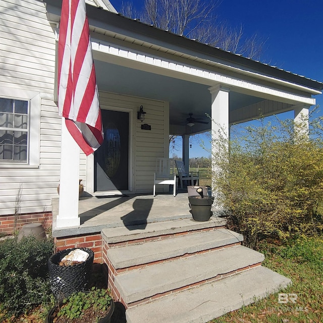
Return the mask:
[[172,293],[126,310],[127,323],[206,323],[285,288],[286,277],[257,266],[216,283]]

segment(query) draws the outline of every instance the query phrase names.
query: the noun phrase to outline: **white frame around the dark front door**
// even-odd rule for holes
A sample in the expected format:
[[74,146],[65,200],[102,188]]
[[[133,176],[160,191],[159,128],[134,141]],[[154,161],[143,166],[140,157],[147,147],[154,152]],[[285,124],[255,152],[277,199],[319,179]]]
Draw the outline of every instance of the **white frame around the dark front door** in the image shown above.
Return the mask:
[[86,191],[94,196],[99,195],[115,195],[115,194],[125,194],[134,193],[134,180],[135,172],[133,172],[133,167],[135,165],[135,140],[134,140],[134,129],[135,120],[133,118],[134,112],[136,111],[136,106],[125,105],[115,106],[115,105],[101,105],[101,110],[119,111],[126,112],[129,115],[129,147],[128,147],[128,190],[110,190],[110,191],[96,191],[94,192],[94,153],[87,156],[87,167],[86,167]]

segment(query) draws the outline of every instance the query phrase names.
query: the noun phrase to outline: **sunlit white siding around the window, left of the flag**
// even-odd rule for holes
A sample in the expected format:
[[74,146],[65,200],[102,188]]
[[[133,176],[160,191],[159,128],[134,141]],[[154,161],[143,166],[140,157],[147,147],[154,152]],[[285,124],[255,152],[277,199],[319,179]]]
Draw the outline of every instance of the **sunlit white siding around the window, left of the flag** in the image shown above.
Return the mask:
[[0,0],[0,62],[2,94],[33,92],[41,106],[38,129],[32,129],[38,132],[38,165],[0,164],[0,215],[14,213],[20,184],[21,213],[50,211],[51,198],[58,196],[61,118],[52,101],[55,37],[42,2]]

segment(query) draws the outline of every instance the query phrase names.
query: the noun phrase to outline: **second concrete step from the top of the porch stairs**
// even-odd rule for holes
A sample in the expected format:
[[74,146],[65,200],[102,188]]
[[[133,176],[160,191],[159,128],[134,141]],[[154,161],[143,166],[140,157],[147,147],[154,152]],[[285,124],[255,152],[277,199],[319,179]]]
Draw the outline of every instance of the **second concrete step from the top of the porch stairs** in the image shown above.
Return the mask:
[[243,241],[241,234],[221,228],[144,244],[124,245],[108,249],[106,253],[113,266],[120,269],[224,247],[241,241]]

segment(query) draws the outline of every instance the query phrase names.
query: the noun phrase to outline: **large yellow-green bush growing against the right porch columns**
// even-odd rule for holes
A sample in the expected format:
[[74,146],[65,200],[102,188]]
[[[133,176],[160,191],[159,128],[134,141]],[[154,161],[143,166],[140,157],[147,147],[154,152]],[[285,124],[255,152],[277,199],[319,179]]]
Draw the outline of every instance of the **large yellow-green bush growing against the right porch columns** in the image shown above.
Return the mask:
[[[322,119],[315,120],[320,130]],[[323,145],[304,131],[307,120],[262,124],[247,136],[228,140],[219,132],[212,142],[212,185],[229,225],[256,248],[264,237],[288,239],[322,231]],[[313,129],[313,128],[312,128]]]

